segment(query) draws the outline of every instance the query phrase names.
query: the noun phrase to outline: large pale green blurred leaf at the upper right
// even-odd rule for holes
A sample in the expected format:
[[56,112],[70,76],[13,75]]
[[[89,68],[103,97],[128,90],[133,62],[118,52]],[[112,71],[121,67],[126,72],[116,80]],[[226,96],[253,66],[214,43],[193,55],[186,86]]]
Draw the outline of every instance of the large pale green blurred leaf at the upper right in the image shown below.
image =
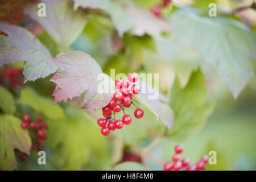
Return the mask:
[[179,41],[199,49],[237,98],[253,75],[256,39],[250,29],[232,19],[200,17],[191,9],[176,11],[171,24]]

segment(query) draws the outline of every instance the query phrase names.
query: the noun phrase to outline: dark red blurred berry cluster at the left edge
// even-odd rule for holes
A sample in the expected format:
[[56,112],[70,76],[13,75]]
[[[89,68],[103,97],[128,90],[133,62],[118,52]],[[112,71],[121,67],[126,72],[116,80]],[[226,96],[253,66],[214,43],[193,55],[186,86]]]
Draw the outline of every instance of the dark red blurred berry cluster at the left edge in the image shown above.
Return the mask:
[[22,69],[18,68],[5,68],[0,80],[1,85],[7,89],[20,88],[23,85]]

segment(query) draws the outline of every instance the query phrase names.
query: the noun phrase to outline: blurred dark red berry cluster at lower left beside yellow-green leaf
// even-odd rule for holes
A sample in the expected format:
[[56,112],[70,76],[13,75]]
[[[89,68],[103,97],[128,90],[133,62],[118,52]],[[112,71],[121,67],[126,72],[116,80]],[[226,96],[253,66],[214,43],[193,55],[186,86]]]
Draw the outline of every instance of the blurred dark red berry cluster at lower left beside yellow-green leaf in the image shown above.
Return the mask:
[[[43,122],[43,117],[41,115],[38,115],[38,122],[35,121],[30,121],[30,115],[29,114],[25,114],[23,116],[23,122],[21,123],[21,127],[22,129],[31,129],[31,130],[37,130],[37,136],[38,138],[36,138],[36,145],[37,145],[37,149],[38,151],[42,150],[42,144],[43,144],[43,140],[45,140],[47,138],[46,133],[44,132],[44,129],[48,130],[49,127],[46,123]],[[35,150],[35,145],[31,146],[30,151]],[[27,154],[22,154],[20,156],[20,160],[22,160],[23,162],[25,162],[27,160]]]

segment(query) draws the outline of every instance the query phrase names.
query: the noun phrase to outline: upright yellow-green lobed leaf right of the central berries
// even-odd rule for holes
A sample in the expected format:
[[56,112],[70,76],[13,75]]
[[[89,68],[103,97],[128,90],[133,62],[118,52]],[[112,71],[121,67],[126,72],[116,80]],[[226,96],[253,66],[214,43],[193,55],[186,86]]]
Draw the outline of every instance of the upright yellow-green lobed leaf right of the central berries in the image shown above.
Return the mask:
[[200,131],[213,111],[213,104],[206,104],[208,90],[201,71],[193,72],[184,89],[178,80],[171,90],[170,106],[174,110],[171,137],[184,140]]

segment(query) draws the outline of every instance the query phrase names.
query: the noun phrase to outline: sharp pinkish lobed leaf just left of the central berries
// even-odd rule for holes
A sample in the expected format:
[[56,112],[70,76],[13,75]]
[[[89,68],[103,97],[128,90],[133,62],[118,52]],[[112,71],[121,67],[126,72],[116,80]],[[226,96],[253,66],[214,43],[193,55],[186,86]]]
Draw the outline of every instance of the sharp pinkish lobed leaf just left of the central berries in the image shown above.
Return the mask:
[[[73,51],[57,55],[49,63],[63,69],[51,79],[57,84],[52,94],[55,96],[55,103],[62,100],[66,102],[68,98],[80,96],[86,91],[84,109],[97,110],[109,104],[114,94],[114,81],[102,73],[100,66],[90,55]],[[105,92],[100,92],[101,86],[105,86]]]

